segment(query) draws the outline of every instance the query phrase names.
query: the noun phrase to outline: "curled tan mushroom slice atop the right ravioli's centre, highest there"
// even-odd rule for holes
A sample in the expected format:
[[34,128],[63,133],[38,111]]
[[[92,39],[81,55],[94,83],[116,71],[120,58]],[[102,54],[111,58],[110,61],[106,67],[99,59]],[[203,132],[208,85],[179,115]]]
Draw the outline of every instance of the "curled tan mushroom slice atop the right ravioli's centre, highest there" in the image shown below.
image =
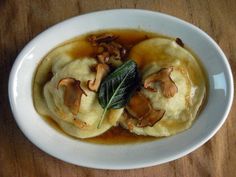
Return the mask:
[[169,67],[169,68],[163,68],[157,73],[151,74],[145,79],[144,88],[156,92],[157,90],[155,88],[152,88],[150,84],[153,82],[160,82],[162,94],[166,98],[173,97],[178,92],[178,88],[170,77],[172,71],[173,67]]

